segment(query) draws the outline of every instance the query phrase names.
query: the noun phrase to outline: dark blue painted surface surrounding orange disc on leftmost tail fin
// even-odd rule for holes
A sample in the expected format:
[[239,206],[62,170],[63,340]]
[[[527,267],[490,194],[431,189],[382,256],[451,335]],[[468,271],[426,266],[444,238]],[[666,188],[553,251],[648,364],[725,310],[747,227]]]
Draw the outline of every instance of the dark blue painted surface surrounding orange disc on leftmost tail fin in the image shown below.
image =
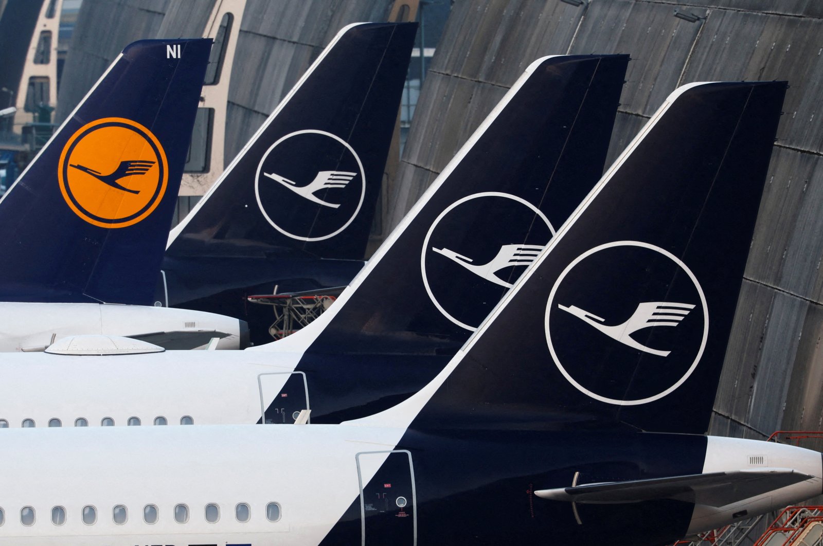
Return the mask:
[[[169,45],[180,46],[180,58],[167,58]],[[154,302],[156,274],[211,47],[211,39],[142,40],[123,50],[0,201],[0,298]],[[125,118],[147,127],[168,161],[168,186],[159,205],[145,220],[128,227],[109,229],[81,219],[67,205],[58,184],[58,163],[67,141],[101,118]],[[100,188],[111,189],[102,183]]]

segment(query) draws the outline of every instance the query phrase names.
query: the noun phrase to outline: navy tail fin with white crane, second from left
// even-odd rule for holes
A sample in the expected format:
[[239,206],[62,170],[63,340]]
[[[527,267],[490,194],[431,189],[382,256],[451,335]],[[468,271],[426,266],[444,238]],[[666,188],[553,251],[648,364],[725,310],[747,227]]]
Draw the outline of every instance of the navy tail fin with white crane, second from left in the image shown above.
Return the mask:
[[170,256],[362,260],[416,23],[341,30],[191,213]]

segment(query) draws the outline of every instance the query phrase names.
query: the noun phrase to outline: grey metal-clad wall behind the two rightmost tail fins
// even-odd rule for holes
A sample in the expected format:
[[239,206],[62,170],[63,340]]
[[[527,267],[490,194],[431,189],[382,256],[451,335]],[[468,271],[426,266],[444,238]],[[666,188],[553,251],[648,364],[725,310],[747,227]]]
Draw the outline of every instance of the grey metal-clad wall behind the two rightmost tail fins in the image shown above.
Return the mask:
[[[689,22],[674,9],[703,17]],[[610,159],[678,85],[791,84],[711,433],[823,428],[823,3],[816,0],[454,2],[401,160],[397,223],[533,59],[630,53]]]

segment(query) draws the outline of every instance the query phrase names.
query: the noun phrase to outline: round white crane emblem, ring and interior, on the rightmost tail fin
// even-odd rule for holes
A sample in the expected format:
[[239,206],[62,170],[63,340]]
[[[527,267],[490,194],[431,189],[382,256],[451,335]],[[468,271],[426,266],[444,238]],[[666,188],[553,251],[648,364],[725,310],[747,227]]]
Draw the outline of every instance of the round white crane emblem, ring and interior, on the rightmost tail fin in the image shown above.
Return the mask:
[[[609,312],[600,307],[605,299]],[[578,319],[634,350],[581,337],[602,336]],[[709,340],[709,303],[680,257],[644,241],[612,241],[589,248],[557,275],[543,328],[551,360],[575,389],[606,404],[644,405],[676,391],[700,364]]]

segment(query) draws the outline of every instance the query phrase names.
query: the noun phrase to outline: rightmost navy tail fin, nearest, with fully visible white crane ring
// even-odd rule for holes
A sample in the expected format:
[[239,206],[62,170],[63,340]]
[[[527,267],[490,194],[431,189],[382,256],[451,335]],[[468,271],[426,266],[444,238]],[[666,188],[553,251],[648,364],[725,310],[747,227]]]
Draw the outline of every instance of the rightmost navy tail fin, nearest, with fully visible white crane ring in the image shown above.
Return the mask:
[[421,393],[414,426],[704,433],[785,90],[672,94]]

